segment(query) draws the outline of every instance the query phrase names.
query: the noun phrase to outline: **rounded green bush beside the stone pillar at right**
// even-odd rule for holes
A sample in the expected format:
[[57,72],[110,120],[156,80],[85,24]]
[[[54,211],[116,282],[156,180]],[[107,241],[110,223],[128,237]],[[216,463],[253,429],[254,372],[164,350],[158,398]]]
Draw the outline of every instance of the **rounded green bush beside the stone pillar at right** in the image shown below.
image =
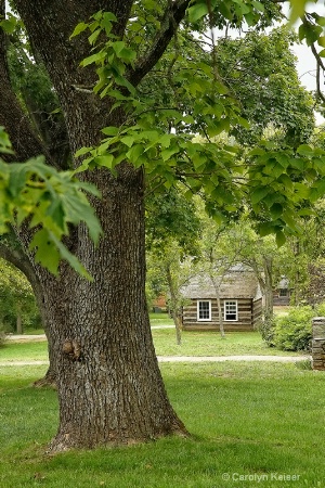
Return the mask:
[[287,316],[275,318],[273,336],[275,347],[282,350],[309,350],[312,318],[318,316],[318,311],[309,306],[295,307]]

